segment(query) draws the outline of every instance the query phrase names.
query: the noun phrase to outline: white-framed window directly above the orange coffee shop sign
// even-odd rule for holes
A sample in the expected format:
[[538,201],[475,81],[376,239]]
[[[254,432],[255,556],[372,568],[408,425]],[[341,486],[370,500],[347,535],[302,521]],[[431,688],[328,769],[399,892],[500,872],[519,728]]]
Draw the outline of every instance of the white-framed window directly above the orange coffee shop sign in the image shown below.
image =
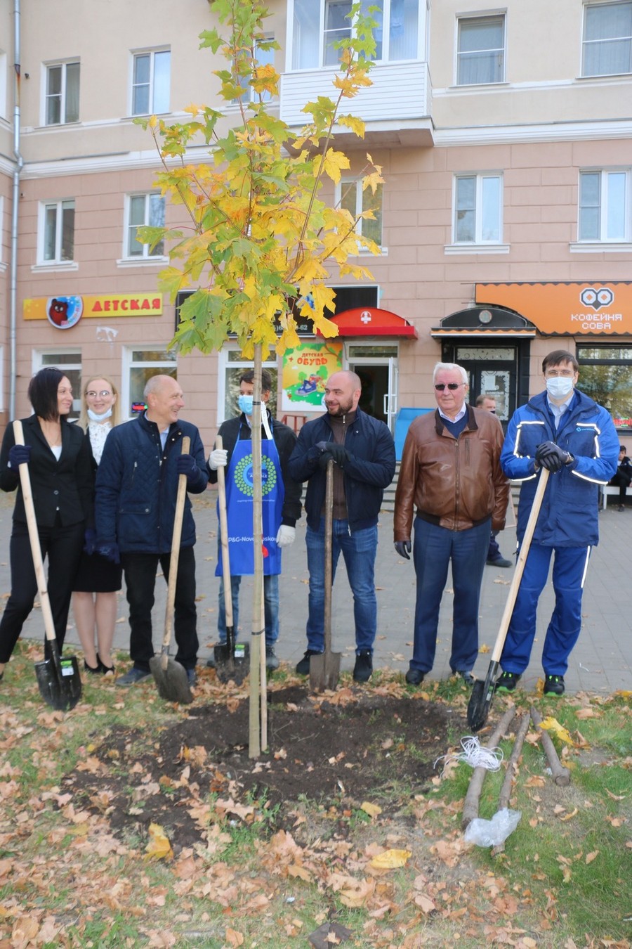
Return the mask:
[[580,172],[580,241],[632,240],[632,169],[595,169]]

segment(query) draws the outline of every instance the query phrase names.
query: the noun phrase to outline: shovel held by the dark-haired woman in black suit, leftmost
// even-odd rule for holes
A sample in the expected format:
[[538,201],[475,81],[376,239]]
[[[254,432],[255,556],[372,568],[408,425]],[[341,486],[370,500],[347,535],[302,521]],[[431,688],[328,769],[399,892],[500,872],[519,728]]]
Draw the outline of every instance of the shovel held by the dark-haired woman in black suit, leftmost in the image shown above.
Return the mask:
[[[15,437],[16,445],[24,445],[24,432],[20,419],[15,419],[13,422],[13,437]],[[19,471],[22,497],[24,499],[25,511],[27,512],[30,552],[35,567],[37,586],[40,592],[40,605],[42,606],[42,616],[44,617],[46,642],[48,642],[48,649],[50,650],[51,656],[50,659],[45,659],[44,662],[35,663],[35,675],[37,676],[37,684],[40,687],[40,694],[46,704],[58,712],[67,712],[69,709],[74,709],[81,698],[79,664],[76,656],[69,656],[66,659],[62,659],[60,656],[60,648],[55,635],[53,613],[50,608],[50,600],[48,599],[44,564],[42,562],[42,548],[40,547],[40,535],[37,532],[35,506],[33,505],[33,495],[30,490],[28,465],[20,465]]]

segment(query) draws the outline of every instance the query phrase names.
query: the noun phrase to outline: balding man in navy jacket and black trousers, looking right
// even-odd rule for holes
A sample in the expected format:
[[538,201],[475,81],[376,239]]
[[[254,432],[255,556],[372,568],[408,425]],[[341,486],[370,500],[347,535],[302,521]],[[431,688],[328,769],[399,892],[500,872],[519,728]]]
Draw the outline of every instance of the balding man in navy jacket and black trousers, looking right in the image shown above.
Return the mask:
[[[97,474],[95,520],[97,549],[123,565],[130,605],[130,656],[134,665],[117,679],[134,685],[150,675],[153,657],[153,588],[158,564],[169,581],[175,500],[180,474],[187,491],[202,493],[208,484],[200,433],[178,419],[184,406],[182,389],[172,376],[153,376],[145,386],[147,411],[117,425],[108,435]],[[182,454],[182,438],[190,450]],[[195,608],[195,524],[187,498],[182,524],[175,586],[173,629],[176,661],[195,684],[197,614]]]

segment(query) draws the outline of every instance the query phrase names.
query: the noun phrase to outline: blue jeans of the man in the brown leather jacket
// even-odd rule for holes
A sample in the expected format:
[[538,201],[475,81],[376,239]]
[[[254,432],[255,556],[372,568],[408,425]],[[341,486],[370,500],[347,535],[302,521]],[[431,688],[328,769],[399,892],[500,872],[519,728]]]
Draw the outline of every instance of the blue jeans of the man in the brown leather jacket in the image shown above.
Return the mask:
[[474,666],[479,653],[480,584],[489,538],[489,520],[468,530],[446,530],[415,518],[417,603],[411,669],[426,673],[434,664],[439,607],[450,561],[454,587],[450,668],[469,672]]

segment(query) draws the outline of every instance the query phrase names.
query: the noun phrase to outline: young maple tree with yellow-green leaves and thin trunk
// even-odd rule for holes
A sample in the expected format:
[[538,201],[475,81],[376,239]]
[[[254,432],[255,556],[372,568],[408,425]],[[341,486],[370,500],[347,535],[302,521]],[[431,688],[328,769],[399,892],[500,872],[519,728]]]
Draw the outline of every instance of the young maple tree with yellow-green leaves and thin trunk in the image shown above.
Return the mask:
[[[207,353],[234,334],[244,358],[255,365],[253,631],[258,630],[259,642],[253,632],[251,672],[262,625],[262,359],[270,350],[281,355],[299,344],[297,316],[309,317],[324,337],[337,335],[325,315],[333,312],[335,295],[327,286],[327,264],[337,266],[341,277],[367,280],[370,271],[350,258],[359,248],[379,253],[373,241],[357,233],[359,217],[372,217],[372,212],[354,217],[342,202],[328,204],[321,195],[351,167],[334,147],[336,126],[364,136],[364,122],[341,109],[371,84],[375,24],[361,8],[359,2],[352,5],[350,35],[336,44],[334,98],[308,102],[303,111],[311,120],[298,133],[269,109],[279,95],[280,75],[273,65],[262,65],[258,53],[279,46],[266,36],[268,12],[261,0],[213,0],[210,10],[226,27],[226,38],[217,28],[201,34],[201,47],[226,58],[226,69],[214,75],[221,83],[219,96],[226,104],[238,103],[239,121],[220,135],[226,114],[191,105],[190,121],[167,124],[153,116],[141,122],[151,129],[160,153],[157,183],[173,204],[182,205],[187,222],[178,229],[146,227],[138,233],[152,246],[170,244],[171,266],[160,273],[161,290],[174,300],[178,291],[194,288],[180,309],[172,345],[184,353],[194,348]],[[209,146],[208,160],[193,162],[190,146],[202,143]],[[383,181],[369,155],[359,177],[362,188],[373,194]],[[255,678],[251,674],[251,701]]]

